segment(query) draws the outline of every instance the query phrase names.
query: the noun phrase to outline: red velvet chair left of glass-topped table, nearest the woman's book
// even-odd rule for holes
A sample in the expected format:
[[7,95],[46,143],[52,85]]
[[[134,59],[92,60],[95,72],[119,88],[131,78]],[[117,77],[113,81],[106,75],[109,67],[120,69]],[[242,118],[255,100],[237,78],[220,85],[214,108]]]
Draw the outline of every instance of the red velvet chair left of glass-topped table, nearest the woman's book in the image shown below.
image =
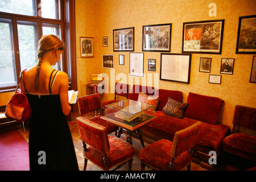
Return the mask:
[[[89,113],[92,111],[101,111],[100,93],[79,97],[77,98],[77,103],[79,106],[79,114],[82,117],[85,117],[86,113]],[[114,131],[116,134],[118,130],[117,126],[112,125],[111,123],[107,122],[105,119],[102,119],[101,115],[89,118],[89,120],[95,123],[98,123],[99,125],[105,126],[108,131],[108,134]]]

